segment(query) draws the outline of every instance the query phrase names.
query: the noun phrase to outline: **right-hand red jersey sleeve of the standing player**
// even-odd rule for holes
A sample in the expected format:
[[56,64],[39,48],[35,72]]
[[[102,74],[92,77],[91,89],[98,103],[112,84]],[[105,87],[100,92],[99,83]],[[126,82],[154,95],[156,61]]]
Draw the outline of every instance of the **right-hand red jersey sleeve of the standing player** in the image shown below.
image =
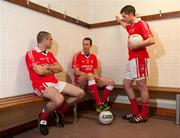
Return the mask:
[[149,28],[149,25],[146,23],[146,22],[141,22],[140,24],[140,29],[141,29],[141,35],[143,37],[143,39],[147,39],[149,38],[150,36],[152,36],[152,32]]

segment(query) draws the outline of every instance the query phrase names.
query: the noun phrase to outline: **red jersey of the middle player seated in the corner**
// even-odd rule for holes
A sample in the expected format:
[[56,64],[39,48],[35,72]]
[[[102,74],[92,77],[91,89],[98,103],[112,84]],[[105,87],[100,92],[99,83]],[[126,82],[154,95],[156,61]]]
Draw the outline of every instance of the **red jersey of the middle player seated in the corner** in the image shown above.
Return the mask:
[[78,68],[79,71],[85,73],[94,73],[94,69],[98,68],[97,58],[92,53],[86,56],[83,51],[80,51],[73,57],[72,68]]

